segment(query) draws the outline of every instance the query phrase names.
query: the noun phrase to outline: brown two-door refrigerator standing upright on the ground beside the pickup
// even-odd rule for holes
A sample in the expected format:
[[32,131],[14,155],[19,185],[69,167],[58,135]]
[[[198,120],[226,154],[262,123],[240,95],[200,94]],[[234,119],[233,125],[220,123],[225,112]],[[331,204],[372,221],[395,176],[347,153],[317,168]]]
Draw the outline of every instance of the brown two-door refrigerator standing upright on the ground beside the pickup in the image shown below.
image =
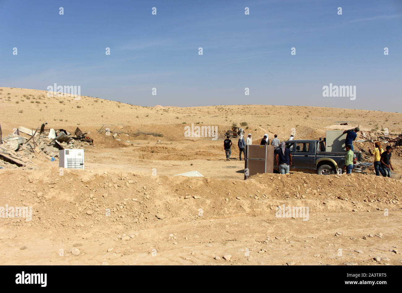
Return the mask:
[[257,173],[274,172],[274,149],[272,145],[246,145],[244,160],[244,180]]

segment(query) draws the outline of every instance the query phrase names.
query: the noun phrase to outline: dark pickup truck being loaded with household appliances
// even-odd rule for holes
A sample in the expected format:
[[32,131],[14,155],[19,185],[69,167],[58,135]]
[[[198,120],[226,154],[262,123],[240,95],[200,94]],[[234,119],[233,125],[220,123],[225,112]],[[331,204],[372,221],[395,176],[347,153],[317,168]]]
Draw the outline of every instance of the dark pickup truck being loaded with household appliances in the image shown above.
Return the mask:
[[[326,152],[323,140],[289,140],[285,145],[290,149],[292,155],[292,165],[290,171],[316,172],[317,174],[335,174],[345,169],[345,152]],[[275,163],[274,151],[274,170],[279,167]],[[361,172],[364,166],[361,165],[363,155],[359,151],[354,152],[353,170]]]

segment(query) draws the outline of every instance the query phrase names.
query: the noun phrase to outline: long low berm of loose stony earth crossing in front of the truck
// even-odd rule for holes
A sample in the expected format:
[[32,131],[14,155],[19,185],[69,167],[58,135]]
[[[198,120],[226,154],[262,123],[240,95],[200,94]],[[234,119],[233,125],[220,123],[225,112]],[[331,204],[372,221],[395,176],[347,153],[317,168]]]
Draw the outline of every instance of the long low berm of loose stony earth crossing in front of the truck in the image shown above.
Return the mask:
[[[58,168],[52,168],[1,173],[0,185],[9,190],[2,195],[2,206],[33,206],[32,221],[13,219],[5,223],[17,229],[28,225],[89,231],[123,225],[129,230],[156,225],[157,213],[176,222],[194,218],[199,208],[205,211],[204,217],[212,219],[220,215],[273,213],[277,205],[286,202],[308,205],[310,213],[314,213],[399,208],[402,200],[401,181],[360,174],[263,174],[246,181],[228,181],[118,170],[64,169],[60,173]],[[133,222],[134,219],[137,220]]]

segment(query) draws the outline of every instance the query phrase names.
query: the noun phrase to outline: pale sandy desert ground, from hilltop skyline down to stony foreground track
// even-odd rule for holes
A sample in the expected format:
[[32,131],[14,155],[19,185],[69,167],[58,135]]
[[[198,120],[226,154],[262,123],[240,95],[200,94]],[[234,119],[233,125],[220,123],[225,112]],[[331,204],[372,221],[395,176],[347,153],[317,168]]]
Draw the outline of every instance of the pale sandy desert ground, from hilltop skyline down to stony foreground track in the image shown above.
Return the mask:
[[[47,121],[70,132],[78,126],[94,138],[94,146],[84,148],[85,170],[61,172],[58,161],[40,154],[33,160],[36,169],[0,170],[0,206],[32,206],[31,221],[0,218],[2,264],[402,264],[400,149],[392,157],[394,178],[369,170],[263,174],[244,181],[237,146],[231,161],[222,147],[232,123],[247,122],[246,132],[258,144],[264,133],[287,139],[292,128],[296,139],[357,124],[366,134],[381,126],[400,133],[400,113],[271,105],[140,107],[47,97],[31,89],[0,93],[3,136]],[[191,123],[218,126],[219,138],[185,137]],[[103,124],[162,136],[121,135],[118,141],[96,131]],[[372,149],[367,143],[357,147]],[[173,176],[193,170],[205,177]],[[308,207],[308,220],[277,217],[283,204]]]

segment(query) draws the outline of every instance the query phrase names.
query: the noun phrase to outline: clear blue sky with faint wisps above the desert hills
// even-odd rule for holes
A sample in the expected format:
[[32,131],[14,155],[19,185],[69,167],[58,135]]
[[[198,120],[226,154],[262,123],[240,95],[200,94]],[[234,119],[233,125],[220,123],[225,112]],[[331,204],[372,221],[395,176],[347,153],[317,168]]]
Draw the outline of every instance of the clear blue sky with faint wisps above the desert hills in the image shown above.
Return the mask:
[[[0,0],[0,12],[1,87],[80,85],[144,106],[402,111],[401,0]],[[323,97],[330,83],[355,85],[356,99]]]

